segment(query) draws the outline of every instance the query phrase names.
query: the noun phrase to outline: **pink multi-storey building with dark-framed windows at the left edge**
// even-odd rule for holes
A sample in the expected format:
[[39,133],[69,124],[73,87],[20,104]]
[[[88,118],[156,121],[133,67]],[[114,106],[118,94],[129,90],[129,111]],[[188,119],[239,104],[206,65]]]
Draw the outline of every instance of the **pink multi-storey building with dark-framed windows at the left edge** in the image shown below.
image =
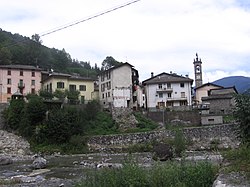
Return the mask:
[[24,96],[41,89],[41,69],[27,65],[0,65],[0,103],[7,103],[12,94]]

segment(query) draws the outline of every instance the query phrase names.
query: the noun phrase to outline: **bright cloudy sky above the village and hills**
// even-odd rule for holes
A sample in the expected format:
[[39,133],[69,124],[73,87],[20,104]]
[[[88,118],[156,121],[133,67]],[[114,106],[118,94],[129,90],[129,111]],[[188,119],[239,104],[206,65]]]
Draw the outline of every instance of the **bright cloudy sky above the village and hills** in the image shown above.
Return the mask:
[[[0,0],[0,28],[31,37],[124,5],[129,0]],[[41,37],[72,59],[101,67],[107,56],[128,62],[140,81],[170,71],[203,83],[250,77],[250,0],[139,0]]]

